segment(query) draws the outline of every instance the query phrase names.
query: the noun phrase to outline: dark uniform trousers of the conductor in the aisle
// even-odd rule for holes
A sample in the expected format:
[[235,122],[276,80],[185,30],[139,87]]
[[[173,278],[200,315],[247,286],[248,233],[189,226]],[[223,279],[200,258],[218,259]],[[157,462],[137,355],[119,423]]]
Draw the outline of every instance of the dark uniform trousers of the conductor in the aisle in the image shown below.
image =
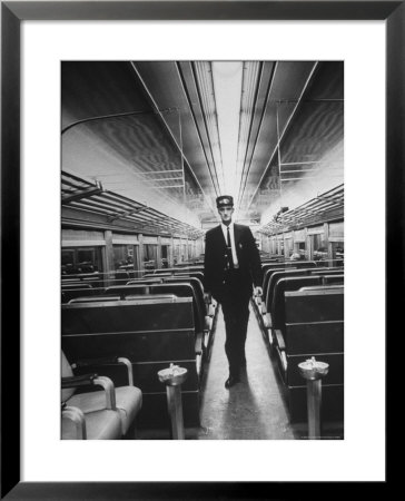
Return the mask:
[[238,271],[229,272],[218,297],[225,321],[225,353],[229,363],[229,374],[234,376],[239,375],[239,369],[245,358],[249,299],[251,295],[251,291],[246,286],[243,287],[238,278]]

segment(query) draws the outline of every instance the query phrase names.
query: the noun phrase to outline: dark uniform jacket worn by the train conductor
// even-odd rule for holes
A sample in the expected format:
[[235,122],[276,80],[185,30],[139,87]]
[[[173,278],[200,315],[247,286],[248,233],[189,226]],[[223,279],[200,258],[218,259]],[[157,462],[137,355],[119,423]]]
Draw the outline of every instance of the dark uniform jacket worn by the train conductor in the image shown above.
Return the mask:
[[[240,287],[251,292],[251,285],[260,286],[263,281],[260,256],[248,226],[234,224],[234,237],[240,271]],[[224,284],[227,269],[226,243],[221,226],[206,233],[204,261],[204,287],[214,297]]]

